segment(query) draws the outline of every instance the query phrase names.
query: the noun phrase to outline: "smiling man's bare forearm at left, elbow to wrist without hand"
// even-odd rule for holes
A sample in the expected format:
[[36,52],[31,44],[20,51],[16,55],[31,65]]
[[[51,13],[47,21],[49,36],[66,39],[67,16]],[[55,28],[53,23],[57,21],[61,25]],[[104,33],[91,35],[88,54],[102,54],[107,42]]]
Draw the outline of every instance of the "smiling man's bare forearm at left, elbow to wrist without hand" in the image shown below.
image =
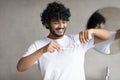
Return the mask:
[[43,50],[39,49],[33,54],[21,58],[17,64],[17,70],[19,72],[22,72],[29,69],[43,53],[44,53]]

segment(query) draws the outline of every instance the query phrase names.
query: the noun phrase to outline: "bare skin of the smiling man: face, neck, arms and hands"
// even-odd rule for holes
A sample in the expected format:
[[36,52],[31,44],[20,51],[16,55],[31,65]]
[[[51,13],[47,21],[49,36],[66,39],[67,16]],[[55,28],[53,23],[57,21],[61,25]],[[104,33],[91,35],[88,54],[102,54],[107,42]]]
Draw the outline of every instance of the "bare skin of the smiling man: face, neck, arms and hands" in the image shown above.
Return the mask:
[[[50,21],[50,24],[47,24],[47,25],[50,25],[49,26],[50,33],[49,33],[48,37],[51,39],[60,39],[64,36],[64,33],[66,31],[67,21],[64,21],[61,19],[59,19],[59,20],[52,19]],[[81,31],[79,33],[80,42],[81,43],[88,42],[89,35],[91,35],[91,34],[95,35],[94,44],[110,38],[110,33],[106,30],[89,29],[89,30]],[[106,35],[104,35],[104,34],[106,34]],[[17,64],[17,70],[19,72],[28,70],[30,67],[32,67],[32,65],[35,63],[35,61],[37,61],[41,57],[41,55],[45,54],[46,52],[50,52],[52,54],[52,52],[54,52],[55,50],[59,51],[59,50],[61,50],[61,47],[58,44],[56,44],[55,42],[48,43],[47,45],[45,45],[44,47],[35,51],[31,55],[21,58]]]

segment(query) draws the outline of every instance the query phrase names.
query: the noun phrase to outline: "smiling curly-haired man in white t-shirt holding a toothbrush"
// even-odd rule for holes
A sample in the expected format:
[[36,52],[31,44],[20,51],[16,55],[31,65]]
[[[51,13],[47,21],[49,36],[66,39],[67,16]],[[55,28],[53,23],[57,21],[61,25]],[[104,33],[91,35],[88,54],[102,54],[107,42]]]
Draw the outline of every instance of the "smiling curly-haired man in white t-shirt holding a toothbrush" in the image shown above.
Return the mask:
[[62,3],[48,4],[41,14],[41,21],[50,33],[30,46],[17,64],[18,71],[38,64],[43,80],[85,80],[85,52],[94,44],[109,39],[110,33],[103,29],[89,29],[77,35],[64,35],[70,16],[69,8]]

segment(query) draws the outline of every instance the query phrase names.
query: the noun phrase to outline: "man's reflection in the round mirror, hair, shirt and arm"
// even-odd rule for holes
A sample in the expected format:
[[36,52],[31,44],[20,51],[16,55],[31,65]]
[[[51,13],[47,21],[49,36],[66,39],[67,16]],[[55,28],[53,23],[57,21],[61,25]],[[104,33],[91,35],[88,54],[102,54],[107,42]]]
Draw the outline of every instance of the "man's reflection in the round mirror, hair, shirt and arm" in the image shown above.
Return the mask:
[[[87,22],[87,29],[101,29],[104,28],[106,23],[105,17],[102,16],[98,11],[91,15]],[[109,40],[103,41],[95,45],[95,50],[110,54],[110,45],[115,41],[120,39],[120,29],[114,32],[111,32],[111,37]]]

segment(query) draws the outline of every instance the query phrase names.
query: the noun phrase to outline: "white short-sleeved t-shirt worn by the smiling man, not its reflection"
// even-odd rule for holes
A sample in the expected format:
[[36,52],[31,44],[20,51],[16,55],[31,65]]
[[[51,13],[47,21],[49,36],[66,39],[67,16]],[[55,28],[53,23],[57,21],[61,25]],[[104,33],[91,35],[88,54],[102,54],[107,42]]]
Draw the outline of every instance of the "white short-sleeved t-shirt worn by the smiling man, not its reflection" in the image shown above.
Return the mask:
[[50,41],[59,44],[62,50],[53,53],[46,52],[36,61],[43,80],[85,80],[84,57],[85,52],[94,47],[93,38],[81,44],[79,35],[64,35],[63,38],[57,40],[46,37],[35,41],[24,56],[30,55]]

